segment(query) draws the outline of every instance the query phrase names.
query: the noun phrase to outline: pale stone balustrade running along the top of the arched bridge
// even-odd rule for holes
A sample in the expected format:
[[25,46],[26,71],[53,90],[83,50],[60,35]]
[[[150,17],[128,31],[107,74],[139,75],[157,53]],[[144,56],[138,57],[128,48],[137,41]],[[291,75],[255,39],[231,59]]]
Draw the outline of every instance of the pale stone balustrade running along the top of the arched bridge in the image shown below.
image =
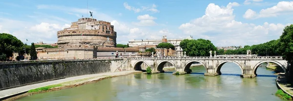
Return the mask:
[[283,60],[282,56],[253,57],[132,57],[131,60]]

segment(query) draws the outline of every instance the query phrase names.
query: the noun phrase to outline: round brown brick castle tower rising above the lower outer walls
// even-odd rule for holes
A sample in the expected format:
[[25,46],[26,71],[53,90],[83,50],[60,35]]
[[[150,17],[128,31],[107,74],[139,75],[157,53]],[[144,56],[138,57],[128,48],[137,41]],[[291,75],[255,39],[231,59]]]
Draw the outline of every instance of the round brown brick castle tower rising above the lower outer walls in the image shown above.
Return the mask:
[[117,34],[110,22],[80,18],[69,28],[57,32],[58,47],[116,47]]

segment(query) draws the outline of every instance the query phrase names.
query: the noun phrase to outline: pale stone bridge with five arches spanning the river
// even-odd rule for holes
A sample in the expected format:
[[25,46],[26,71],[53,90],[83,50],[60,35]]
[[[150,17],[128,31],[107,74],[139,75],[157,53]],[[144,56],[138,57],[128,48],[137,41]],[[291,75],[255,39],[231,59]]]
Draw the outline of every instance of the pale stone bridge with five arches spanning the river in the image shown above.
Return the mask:
[[216,76],[221,74],[221,67],[232,62],[241,68],[241,77],[254,78],[257,67],[262,63],[275,63],[283,68],[285,74],[289,67],[282,56],[250,56],[250,57],[135,57],[130,58],[130,64],[134,70],[143,70],[141,65],[145,63],[152,68],[154,72],[164,72],[164,65],[169,62],[175,67],[176,71],[181,73],[190,73],[189,67],[192,63],[201,63],[206,68],[205,75]]

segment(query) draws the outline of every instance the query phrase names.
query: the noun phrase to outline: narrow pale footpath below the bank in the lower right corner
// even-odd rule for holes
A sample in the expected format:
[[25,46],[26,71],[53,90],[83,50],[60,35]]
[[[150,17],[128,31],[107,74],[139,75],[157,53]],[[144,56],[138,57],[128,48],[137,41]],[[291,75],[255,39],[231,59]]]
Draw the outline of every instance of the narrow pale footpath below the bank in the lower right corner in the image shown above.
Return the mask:
[[276,79],[277,86],[285,93],[293,97],[293,85],[289,83],[288,78],[284,74],[279,74]]

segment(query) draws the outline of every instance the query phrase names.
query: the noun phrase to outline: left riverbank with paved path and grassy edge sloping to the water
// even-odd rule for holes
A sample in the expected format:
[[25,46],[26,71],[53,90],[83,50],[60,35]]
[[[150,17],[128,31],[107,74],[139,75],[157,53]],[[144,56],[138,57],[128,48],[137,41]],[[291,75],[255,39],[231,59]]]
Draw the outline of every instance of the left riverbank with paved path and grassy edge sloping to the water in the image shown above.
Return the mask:
[[[82,75],[76,77],[69,77],[60,80],[54,80],[39,84],[31,84],[17,88],[11,88],[0,91],[0,101],[14,101],[21,97],[30,96],[33,94],[44,93],[49,91],[61,90],[71,88],[83,84],[98,82],[107,78],[129,75],[133,73],[140,73],[142,71],[123,71],[123,72],[108,72],[99,74]],[[7,99],[8,98],[8,99]]]

